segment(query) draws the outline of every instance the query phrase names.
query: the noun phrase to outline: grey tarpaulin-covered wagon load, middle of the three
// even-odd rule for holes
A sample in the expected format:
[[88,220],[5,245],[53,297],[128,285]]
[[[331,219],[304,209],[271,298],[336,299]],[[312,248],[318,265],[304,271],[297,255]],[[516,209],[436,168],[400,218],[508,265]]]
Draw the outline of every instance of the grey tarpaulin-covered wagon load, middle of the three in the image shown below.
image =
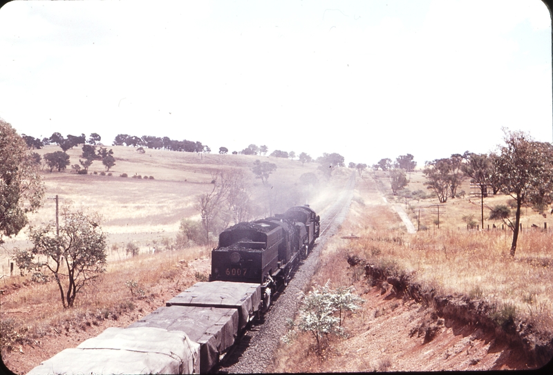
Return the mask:
[[184,331],[200,344],[200,372],[214,367],[219,356],[234,344],[238,334],[238,310],[218,307],[160,307],[131,327],[158,327]]

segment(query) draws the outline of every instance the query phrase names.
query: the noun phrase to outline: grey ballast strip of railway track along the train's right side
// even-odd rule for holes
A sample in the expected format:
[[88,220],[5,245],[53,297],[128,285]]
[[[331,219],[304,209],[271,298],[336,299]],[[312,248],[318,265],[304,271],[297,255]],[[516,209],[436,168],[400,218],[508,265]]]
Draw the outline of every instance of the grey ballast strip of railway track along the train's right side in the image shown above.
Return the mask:
[[286,321],[293,319],[299,308],[303,292],[319,265],[319,253],[328,238],[337,231],[344,221],[355,187],[355,172],[352,173],[344,190],[324,216],[321,216],[319,238],[310,256],[304,260],[288,287],[274,299],[271,309],[263,320],[254,323],[221,361],[218,372],[225,374],[254,374],[266,372],[272,363],[274,350],[279,340],[286,334]]

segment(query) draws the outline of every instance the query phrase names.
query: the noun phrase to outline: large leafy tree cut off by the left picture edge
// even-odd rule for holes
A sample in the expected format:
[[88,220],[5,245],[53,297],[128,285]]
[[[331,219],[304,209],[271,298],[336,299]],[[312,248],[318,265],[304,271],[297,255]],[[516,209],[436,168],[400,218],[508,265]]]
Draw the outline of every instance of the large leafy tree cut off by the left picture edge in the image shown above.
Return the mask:
[[0,244],[17,235],[44,198],[38,164],[14,128],[0,119]]

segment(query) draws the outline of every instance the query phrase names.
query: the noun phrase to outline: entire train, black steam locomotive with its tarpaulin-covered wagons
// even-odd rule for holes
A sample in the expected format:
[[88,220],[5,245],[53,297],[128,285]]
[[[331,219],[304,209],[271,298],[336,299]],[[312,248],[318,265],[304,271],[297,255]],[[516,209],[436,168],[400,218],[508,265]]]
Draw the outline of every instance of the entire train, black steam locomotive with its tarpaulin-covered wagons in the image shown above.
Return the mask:
[[209,282],[197,282],[126,328],[64,349],[28,374],[189,374],[212,370],[319,237],[319,216],[294,206],[219,235]]

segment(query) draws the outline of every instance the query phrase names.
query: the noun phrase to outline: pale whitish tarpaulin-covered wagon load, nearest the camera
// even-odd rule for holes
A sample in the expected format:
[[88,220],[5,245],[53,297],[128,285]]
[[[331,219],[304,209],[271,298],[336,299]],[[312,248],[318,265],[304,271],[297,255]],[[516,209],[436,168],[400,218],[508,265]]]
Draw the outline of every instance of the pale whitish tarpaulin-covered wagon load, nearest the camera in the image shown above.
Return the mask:
[[62,350],[28,375],[198,373],[199,349],[184,332],[111,327],[76,348]]

